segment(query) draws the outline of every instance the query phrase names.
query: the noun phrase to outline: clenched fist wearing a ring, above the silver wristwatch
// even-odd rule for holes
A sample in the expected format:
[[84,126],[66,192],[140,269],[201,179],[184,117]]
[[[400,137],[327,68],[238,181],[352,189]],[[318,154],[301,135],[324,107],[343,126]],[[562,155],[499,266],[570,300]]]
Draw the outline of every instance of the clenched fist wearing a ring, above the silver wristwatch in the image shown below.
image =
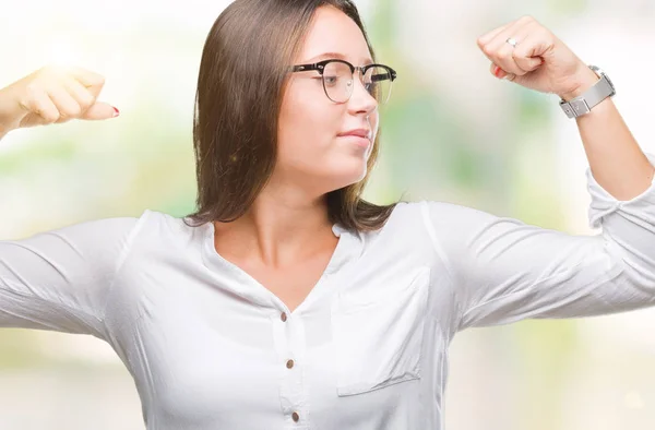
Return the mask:
[[[512,47],[508,38],[516,40]],[[569,100],[598,76],[567,45],[532,16],[495,28],[477,39],[491,61],[491,73],[526,88],[557,94]]]

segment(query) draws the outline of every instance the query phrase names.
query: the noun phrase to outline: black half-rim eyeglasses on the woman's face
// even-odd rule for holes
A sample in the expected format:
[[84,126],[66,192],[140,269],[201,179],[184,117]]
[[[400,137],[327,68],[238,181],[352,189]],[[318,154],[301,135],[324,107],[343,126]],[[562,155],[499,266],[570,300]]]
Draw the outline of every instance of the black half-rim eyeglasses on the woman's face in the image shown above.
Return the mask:
[[345,60],[324,60],[313,64],[294,65],[293,72],[318,71],[323,80],[325,95],[334,103],[346,103],[353,95],[355,70],[360,72],[359,79],[366,91],[383,105],[391,95],[391,85],[396,79],[396,72],[389,65],[367,64],[356,67]]

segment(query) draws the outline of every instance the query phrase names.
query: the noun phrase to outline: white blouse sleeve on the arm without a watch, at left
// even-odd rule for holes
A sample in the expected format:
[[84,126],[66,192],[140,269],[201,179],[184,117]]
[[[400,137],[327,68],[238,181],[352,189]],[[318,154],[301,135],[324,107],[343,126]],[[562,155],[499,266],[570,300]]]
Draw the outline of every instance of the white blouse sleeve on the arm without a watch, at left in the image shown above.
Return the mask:
[[109,289],[138,218],[106,218],[0,241],[0,327],[105,338]]

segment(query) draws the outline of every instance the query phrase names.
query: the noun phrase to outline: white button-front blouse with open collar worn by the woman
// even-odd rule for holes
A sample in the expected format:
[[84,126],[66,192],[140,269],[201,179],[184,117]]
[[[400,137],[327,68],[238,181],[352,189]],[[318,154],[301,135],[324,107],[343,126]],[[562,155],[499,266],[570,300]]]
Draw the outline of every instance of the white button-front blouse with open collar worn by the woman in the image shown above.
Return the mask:
[[145,211],[2,241],[0,326],[106,341],[150,430],[442,429],[458,331],[655,303],[655,184],[623,202],[586,175],[597,236],[427,201],[376,232],[335,225],[294,312],[211,223]]

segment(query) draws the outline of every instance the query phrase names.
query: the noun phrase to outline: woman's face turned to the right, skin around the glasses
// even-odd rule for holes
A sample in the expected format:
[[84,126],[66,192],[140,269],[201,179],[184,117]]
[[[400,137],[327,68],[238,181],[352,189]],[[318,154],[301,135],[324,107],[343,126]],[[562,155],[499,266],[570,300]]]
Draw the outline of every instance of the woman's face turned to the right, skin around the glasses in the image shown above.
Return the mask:
[[[294,64],[336,58],[354,65],[372,63],[357,24],[332,7],[319,8]],[[290,73],[283,96],[278,127],[277,179],[326,193],[364,179],[378,132],[378,101],[355,72],[348,101],[334,103],[325,95],[318,71]],[[370,131],[370,140],[340,136],[355,129]]]

